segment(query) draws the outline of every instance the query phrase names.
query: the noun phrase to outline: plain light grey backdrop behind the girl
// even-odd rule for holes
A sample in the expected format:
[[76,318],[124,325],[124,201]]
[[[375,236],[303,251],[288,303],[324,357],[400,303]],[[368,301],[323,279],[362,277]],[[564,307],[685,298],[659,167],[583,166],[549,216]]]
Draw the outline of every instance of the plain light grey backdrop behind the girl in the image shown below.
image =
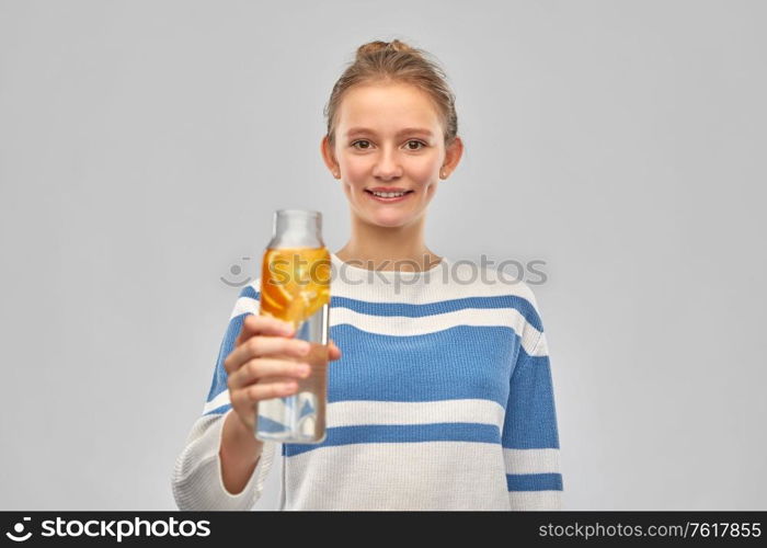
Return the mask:
[[447,70],[467,147],[428,246],[546,261],[565,509],[767,509],[765,15],[0,1],[0,509],[175,509],[239,292],[219,277],[255,274],[281,207],[345,243],[322,107],[394,37]]

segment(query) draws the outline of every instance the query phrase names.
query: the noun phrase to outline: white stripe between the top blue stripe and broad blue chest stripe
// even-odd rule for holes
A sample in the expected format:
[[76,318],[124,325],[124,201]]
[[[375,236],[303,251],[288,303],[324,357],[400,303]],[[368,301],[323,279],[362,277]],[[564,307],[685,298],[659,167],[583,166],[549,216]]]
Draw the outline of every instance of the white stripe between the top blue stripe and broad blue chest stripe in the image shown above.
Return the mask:
[[369,316],[346,307],[334,307],[331,326],[351,324],[368,333],[394,336],[412,336],[435,333],[456,326],[504,326],[523,334],[522,344],[528,354],[539,331],[527,322],[516,309],[465,308],[445,313],[411,318],[408,316]]

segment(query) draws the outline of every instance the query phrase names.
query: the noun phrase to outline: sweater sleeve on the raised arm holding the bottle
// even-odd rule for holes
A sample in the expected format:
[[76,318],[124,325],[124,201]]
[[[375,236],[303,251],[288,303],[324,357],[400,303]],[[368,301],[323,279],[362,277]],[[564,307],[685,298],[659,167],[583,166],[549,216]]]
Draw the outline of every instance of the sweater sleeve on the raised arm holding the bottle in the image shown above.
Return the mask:
[[224,486],[219,454],[221,434],[227,414],[234,412],[229,401],[224,359],[234,347],[245,316],[259,312],[257,286],[259,279],[240,292],[216,359],[203,414],[195,420],[176,458],[171,486],[179,510],[251,510],[261,498],[264,480],[272,467],[277,444],[264,442],[262,454],[244,489],[230,493]]

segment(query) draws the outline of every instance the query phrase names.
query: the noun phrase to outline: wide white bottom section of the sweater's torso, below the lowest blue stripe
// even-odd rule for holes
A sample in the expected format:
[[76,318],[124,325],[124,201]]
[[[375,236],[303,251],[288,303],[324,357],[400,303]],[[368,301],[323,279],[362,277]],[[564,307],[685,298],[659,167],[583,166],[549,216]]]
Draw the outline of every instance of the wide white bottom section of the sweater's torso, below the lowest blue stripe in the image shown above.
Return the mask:
[[320,446],[283,466],[287,498],[279,510],[510,510],[496,444]]

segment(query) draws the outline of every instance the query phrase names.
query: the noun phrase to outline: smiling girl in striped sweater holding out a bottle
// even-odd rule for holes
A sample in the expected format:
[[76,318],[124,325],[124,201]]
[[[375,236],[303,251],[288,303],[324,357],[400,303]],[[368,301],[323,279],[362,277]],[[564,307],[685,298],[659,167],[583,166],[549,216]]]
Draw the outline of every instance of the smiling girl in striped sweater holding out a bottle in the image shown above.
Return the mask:
[[[427,207],[463,149],[454,103],[437,64],[397,39],[360,46],[332,90],[321,153],[352,228],[331,253],[328,432],[282,444],[281,510],[561,507],[533,292],[424,241]],[[257,401],[291,393],[277,379],[305,375],[293,332],[259,316],[260,283],[240,294],[176,460],[182,510],[255,504],[278,445],[253,436]]]

